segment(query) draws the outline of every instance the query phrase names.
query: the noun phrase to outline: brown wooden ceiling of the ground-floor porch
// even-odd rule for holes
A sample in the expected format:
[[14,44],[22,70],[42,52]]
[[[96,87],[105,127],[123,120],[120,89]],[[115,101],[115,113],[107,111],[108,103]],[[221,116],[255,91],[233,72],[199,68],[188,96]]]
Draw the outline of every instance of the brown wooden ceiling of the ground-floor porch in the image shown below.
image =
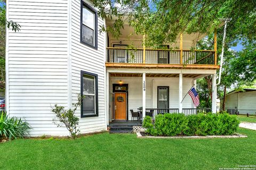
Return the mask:
[[[197,78],[203,74],[183,74],[183,78]],[[142,77],[142,73],[110,73],[110,77]],[[146,77],[178,78],[179,74],[146,74]]]

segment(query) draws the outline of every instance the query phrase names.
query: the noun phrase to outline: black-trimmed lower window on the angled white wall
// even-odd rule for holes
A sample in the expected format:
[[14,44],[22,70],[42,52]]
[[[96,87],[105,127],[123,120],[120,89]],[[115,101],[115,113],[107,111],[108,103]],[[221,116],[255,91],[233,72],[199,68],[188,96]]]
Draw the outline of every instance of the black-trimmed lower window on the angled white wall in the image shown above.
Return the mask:
[[81,71],[81,117],[98,116],[98,75]]

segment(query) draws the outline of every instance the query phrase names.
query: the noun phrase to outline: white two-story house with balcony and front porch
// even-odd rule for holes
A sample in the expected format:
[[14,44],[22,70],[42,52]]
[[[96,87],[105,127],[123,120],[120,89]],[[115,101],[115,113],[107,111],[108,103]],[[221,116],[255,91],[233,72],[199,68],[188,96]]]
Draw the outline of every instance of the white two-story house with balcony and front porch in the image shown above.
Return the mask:
[[[9,115],[22,117],[33,128],[30,135],[38,136],[69,135],[53,123],[51,107],[71,108],[78,94],[84,95],[76,112],[81,133],[107,130],[116,121],[137,121],[131,110],[142,117],[197,113],[189,96],[182,99],[206,75],[212,75],[215,87],[216,43],[213,50],[190,50],[205,35],[183,33],[175,44],[149,49],[143,46],[142,35],[128,38],[133,31],[128,24],[115,39],[99,29],[114,21],[99,18],[90,4],[7,1],[7,20],[21,25],[19,32],[6,31]],[[135,48],[127,48],[131,44]],[[212,108],[201,111],[216,112],[216,92],[213,88]]]

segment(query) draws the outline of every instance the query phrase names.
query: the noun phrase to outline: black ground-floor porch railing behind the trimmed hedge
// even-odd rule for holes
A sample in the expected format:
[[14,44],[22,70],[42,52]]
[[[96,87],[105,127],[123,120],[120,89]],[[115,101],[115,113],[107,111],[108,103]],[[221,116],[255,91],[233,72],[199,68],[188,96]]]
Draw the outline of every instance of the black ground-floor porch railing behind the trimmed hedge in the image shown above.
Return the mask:
[[[183,108],[182,113],[185,115],[192,115],[198,113],[208,113],[211,112],[211,108]],[[166,113],[179,113],[178,108],[146,108],[146,116],[155,117],[158,114]]]

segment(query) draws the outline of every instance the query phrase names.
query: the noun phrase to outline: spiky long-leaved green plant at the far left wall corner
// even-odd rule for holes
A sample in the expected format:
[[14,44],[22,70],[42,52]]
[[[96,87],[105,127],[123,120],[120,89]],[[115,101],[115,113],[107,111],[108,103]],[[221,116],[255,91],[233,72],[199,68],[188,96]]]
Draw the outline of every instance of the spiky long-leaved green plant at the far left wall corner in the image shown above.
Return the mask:
[[2,112],[0,116],[0,139],[17,139],[23,138],[29,134],[29,127],[27,122],[21,120],[21,118],[11,117],[6,115],[6,112]]

